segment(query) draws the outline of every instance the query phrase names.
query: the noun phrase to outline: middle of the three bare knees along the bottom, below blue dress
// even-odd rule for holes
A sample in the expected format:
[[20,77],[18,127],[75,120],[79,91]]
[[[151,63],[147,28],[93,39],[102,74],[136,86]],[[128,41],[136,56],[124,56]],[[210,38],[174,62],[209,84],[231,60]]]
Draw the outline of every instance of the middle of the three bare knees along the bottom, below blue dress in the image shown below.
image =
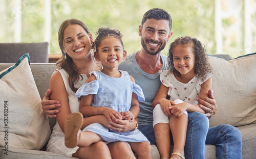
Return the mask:
[[136,159],[130,146],[123,141],[112,142],[108,146],[113,159]]

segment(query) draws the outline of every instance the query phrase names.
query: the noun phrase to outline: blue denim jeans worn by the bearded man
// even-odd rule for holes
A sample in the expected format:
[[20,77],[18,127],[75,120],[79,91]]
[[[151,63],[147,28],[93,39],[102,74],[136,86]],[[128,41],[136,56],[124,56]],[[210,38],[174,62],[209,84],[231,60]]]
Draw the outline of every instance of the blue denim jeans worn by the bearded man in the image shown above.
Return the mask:
[[[138,129],[151,144],[156,145],[153,124],[139,126]],[[242,137],[236,127],[222,124],[208,128],[204,114],[188,113],[185,157],[204,158],[205,144],[216,145],[217,158],[242,158]]]

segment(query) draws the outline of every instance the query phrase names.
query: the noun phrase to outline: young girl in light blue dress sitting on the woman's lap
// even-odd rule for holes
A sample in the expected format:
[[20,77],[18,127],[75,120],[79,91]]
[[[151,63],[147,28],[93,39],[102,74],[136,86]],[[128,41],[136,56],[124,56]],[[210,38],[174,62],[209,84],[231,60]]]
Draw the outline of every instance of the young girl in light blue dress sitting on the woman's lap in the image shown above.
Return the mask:
[[[83,116],[104,115],[110,122],[122,119],[137,124],[135,118],[139,114],[139,102],[144,101],[142,89],[135,84],[134,78],[126,71],[118,70],[126,57],[121,33],[99,28],[96,34],[92,47],[102,70],[92,71],[86,83],[77,90],[80,113],[70,114],[65,121],[65,144],[67,147],[87,147],[98,141],[124,141],[139,158],[152,158],[150,142],[137,127],[133,131],[122,132],[119,128],[119,132],[115,132],[93,123],[80,131]],[[127,156],[120,156],[124,157]]]

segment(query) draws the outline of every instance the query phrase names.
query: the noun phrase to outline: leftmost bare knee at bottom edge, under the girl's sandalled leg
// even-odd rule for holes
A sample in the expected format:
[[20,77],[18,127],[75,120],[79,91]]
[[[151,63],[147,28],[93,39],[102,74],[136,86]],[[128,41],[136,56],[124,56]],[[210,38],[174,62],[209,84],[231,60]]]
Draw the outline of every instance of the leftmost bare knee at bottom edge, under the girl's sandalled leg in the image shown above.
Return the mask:
[[111,159],[109,147],[102,141],[91,144],[88,147],[80,147],[72,156],[80,159]]

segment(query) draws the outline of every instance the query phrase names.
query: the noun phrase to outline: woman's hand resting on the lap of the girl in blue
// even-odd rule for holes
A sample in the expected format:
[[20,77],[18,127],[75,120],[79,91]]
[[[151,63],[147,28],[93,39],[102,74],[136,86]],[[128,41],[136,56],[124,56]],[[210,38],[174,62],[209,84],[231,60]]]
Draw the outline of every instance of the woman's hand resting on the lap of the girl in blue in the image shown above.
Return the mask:
[[[137,121],[138,122],[138,121]],[[115,121],[110,121],[108,127],[115,132],[126,132],[132,131],[137,126],[135,121],[130,122],[129,120],[116,119]]]

